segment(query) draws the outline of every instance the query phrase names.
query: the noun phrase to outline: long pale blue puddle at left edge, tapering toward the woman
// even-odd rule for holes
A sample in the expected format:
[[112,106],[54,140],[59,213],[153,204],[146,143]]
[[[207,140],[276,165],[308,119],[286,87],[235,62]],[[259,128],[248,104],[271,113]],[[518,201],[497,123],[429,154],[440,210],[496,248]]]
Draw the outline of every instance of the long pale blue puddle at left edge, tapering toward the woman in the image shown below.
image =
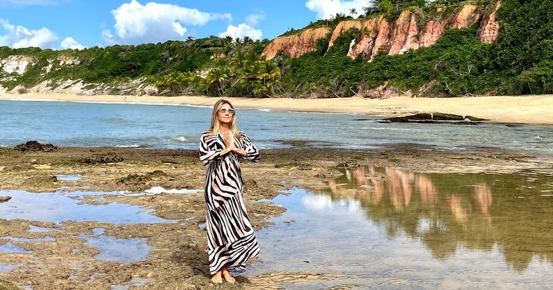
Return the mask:
[[[72,193],[73,194],[73,193]],[[0,204],[0,218],[21,218],[40,222],[97,221],[111,224],[154,224],[176,222],[151,215],[152,210],[140,206],[111,203],[103,205],[79,204],[79,200],[62,193],[29,193],[27,191],[0,191],[10,195],[9,203]]]

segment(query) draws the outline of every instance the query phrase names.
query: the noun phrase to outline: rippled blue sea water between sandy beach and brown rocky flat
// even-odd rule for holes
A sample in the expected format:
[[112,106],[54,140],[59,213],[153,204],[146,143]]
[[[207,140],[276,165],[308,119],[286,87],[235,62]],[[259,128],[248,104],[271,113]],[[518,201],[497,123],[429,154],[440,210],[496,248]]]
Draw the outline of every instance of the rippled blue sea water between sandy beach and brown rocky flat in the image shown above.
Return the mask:
[[[366,115],[236,112],[239,128],[260,148],[286,148],[290,146],[282,140],[305,140],[310,146],[333,148],[413,143],[423,148],[478,151],[489,146],[553,154],[553,126],[382,124],[377,122],[382,117]],[[192,106],[3,100],[0,147],[37,140],[57,146],[197,149],[210,114],[211,108]]]

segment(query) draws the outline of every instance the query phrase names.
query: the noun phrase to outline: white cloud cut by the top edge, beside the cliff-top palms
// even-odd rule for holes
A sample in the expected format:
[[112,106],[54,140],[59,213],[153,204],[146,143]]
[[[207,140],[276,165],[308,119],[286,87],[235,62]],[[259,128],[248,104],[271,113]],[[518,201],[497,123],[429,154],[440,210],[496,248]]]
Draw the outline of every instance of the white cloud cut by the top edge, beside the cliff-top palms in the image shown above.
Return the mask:
[[[372,2],[372,1],[371,1]],[[350,14],[350,9],[355,8],[355,16],[362,14],[363,7],[371,4],[367,0],[309,0],[306,2],[306,7],[317,12],[319,19],[328,19],[336,15],[336,13]]]

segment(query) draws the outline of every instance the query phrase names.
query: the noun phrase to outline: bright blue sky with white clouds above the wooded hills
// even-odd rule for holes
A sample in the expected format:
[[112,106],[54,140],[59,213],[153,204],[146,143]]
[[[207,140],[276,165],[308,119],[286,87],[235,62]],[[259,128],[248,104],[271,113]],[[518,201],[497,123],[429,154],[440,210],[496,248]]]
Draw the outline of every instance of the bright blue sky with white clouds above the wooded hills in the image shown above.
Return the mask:
[[[83,49],[188,37],[273,39],[370,0],[0,0],[0,46]],[[356,16],[356,15],[354,15]]]

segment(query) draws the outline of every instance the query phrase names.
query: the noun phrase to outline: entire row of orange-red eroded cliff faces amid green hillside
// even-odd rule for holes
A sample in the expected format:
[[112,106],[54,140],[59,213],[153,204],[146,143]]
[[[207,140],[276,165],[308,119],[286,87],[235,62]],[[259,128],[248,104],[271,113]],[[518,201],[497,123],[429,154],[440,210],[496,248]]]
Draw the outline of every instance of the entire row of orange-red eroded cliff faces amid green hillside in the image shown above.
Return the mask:
[[[482,21],[478,37],[481,41],[491,43],[498,37],[499,23],[496,11],[499,6],[498,2],[488,12],[482,12],[484,9],[476,4],[467,3],[449,17],[424,20],[425,22],[420,14],[410,10],[402,11],[391,23],[382,16],[341,21],[332,31],[328,47],[330,48],[342,33],[355,28],[362,33],[357,43],[350,46],[348,56],[355,59],[358,55],[365,55],[365,58],[371,61],[378,54],[400,55],[409,50],[431,46],[442,37],[445,30],[467,28],[478,23],[480,19]],[[281,50],[290,57],[299,57],[303,53],[315,50],[317,39],[323,37],[326,37],[326,33],[322,29],[317,32],[304,30],[300,35],[277,37],[265,49],[263,55],[271,59]]]

